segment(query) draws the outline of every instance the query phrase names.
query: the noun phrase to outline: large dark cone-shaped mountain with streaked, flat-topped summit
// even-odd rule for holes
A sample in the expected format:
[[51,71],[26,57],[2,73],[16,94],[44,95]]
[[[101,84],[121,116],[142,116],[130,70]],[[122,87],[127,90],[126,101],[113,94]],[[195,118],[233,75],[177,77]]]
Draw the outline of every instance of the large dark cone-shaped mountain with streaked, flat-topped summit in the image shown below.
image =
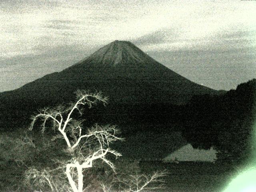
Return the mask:
[[114,41],[62,72],[0,93],[1,121],[70,102],[77,89],[102,91],[113,105],[182,104],[193,95],[219,93],[166,68],[130,42]]

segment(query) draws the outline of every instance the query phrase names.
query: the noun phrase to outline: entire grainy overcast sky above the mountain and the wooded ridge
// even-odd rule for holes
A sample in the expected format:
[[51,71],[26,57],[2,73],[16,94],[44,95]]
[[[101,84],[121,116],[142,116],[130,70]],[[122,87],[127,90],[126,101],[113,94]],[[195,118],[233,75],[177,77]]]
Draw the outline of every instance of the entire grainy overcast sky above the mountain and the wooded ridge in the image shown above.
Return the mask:
[[256,1],[0,0],[0,92],[128,40],[217,90],[256,78]]

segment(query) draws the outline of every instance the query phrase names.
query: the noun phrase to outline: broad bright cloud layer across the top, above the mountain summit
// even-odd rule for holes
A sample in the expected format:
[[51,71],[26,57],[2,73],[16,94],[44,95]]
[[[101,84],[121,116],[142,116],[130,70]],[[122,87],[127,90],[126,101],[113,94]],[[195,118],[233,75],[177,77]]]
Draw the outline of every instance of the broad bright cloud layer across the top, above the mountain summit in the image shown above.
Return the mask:
[[[209,35],[230,30],[230,25],[236,27],[239,22],[252,20],[252,16],[245,19],[241,14],[245,13],[247,4],[241,6],[241,3],[229,1],[152,3],[145,0],[138,3],[131,0],[128,3],[77,0],[71,3],[38,0],[31,3],[24,0],[3,1],[2,4],[0,43],[3,42],[1,49],[5,56],[17,52],[26,54],[24,50],[31,53],[42,39],[54,46],[86,41],[103,44],[119,39],[134,40],[136,44],[152,42],[160,48],[191,48],[205,43],[202,40]],[[253,14],[252,8],[249,7],[246,13]],[[6,43],[10,37],[12,39]]]

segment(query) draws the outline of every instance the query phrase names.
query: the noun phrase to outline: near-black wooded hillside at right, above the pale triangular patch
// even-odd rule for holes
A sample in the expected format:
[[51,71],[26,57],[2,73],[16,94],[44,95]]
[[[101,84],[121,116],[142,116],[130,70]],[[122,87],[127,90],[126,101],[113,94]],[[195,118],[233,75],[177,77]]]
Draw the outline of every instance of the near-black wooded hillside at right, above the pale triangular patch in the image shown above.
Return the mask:
[[183,134],[195,148],[215,146],[219,160],[240,160],[252,152],[256,79],[220,96],[194,96],[184,111]]

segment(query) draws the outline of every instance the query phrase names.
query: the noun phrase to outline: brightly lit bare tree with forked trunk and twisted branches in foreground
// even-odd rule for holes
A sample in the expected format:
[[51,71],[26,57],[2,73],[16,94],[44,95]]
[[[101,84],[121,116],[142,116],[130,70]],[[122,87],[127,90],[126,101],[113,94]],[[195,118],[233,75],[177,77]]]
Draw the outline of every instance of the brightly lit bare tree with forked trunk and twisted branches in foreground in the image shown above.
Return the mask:
[[[36,120],[42,120],[42,133],[46,129],[48,121],[52,122],[52,128],[58,130],[58,134],[52,138],[56,140],[62,138],[66,143],[66,152],[71,154],[71,159],[66,162],[59,161],[60,166],[56,170],[63,167],[66,168],[65,174],[68,178],[68,182],[74,192],[83,191],[83,171],[86,168],[91,168],[94,161],[101,159],[108,164],[114,171],[114,164],[106,158],[107,154],[113,154],[118,157],[120,153],[109,148],[109,144],[116,140],[121,140],[117,136],[118,130],[115,126],[100,126],[95,124],[91,128],[88,128],[86,132],[83,130],[83,121],[75,120],[72,118],[74,111],[77,111],[82,115],[82,106],[87,105],[91,108],[97,102],[107,103],[107,98],[103,97],[100,93],[90,94],[85,91],[78,90],[76,92],[77,102],[70,104],[70,106],[57,106],[55,108],[44,108],[40,110],[38,114],[32,117],[32,123],[30,130],[34,127]],[[92,147],[93,146],[93,147]],[[74,169],[76,169],[76,176],[74,176]],[[51,190],[54,190],[54,184],[51,182],[50,174],[52,170],[43,170],[37,172],[32,168],[27,174],[27,178],[41,178],[41,182],[44,181]]]

